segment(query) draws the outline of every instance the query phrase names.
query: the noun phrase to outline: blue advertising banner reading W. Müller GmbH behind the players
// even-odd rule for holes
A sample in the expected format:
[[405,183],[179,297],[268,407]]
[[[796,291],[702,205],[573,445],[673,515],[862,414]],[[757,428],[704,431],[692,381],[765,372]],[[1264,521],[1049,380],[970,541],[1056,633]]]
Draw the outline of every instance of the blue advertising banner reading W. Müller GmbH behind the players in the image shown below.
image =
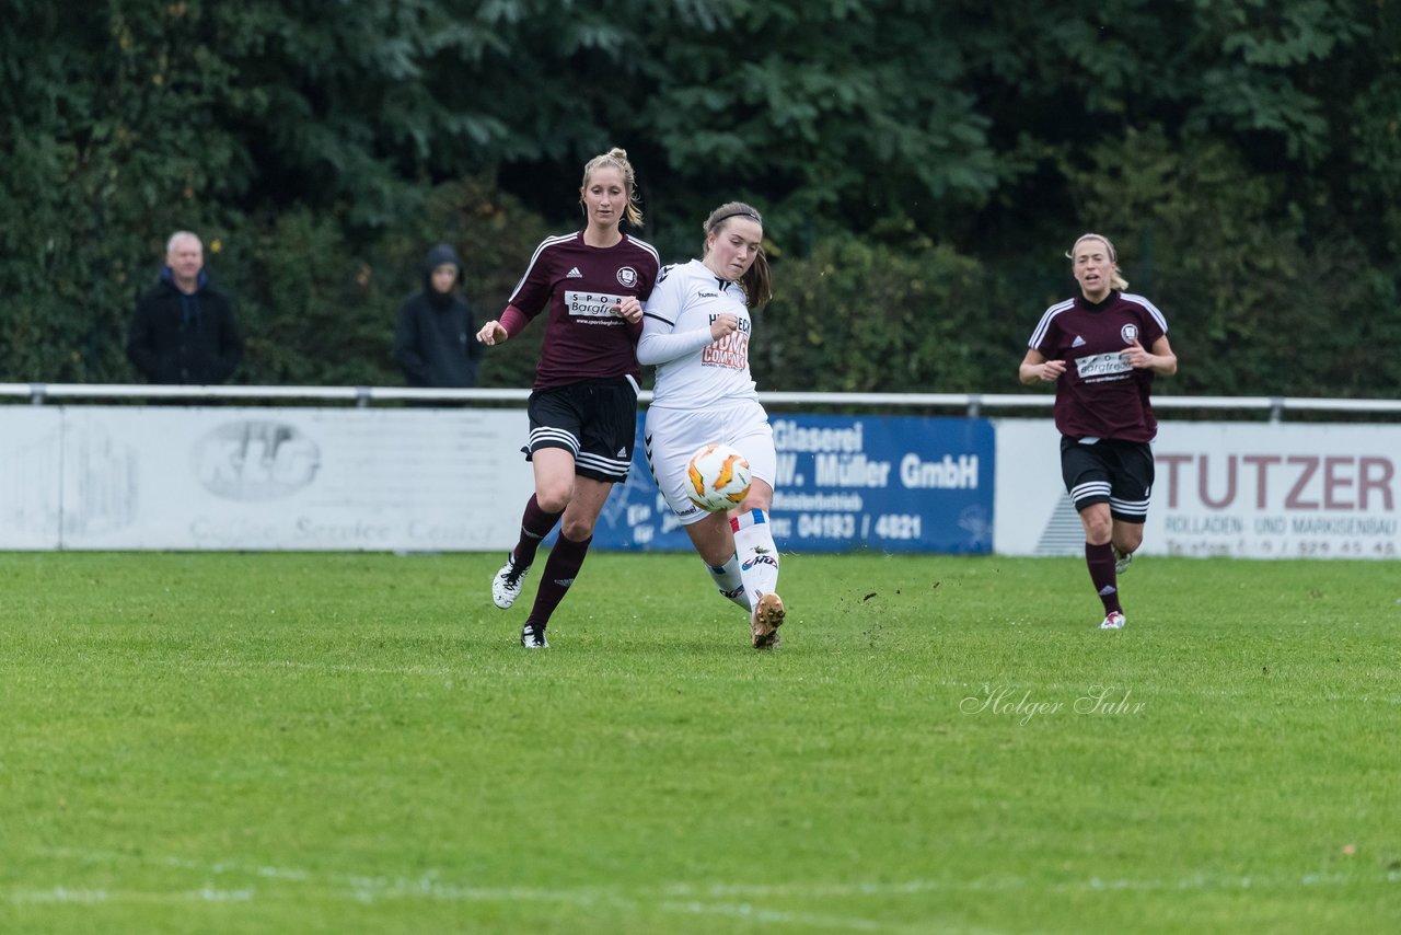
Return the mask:
[[[691,540],[637,446],[614,488],[594,548],[691,551]],[[769,416],[778,482],[769,521],[779,548],[799,552],[992,552],[995,444],[988,419]]]

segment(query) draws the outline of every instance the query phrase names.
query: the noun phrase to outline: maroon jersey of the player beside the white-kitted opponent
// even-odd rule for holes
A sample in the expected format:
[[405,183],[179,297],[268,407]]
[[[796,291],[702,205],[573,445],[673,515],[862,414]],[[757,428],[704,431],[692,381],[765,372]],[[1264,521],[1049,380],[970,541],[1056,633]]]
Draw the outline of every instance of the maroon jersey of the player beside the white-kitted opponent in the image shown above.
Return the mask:
[[517,325],[510,307],[528,320],[549,308],[535,388],[621,376],[636,381],[642,325],[625,322],[614,306],[626,296],[646,301],[658,266],[657,251],[628,234],[612,247],[588,247],[583,231],[546,237],[502,315],[514,335],[525,322]]

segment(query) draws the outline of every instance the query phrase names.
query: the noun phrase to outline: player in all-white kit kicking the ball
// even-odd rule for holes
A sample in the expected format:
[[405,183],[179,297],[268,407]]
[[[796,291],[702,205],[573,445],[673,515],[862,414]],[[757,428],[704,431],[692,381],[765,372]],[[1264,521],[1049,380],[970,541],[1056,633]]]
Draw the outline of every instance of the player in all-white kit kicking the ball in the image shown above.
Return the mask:
[[[773,430],[750,376],[750,310],[773,292],[764,221],[741,202],[710,212],[700,259],[665,266],[643,308],[637,362],[657,381],[643,430],[647,464],[720,593],[750,611],[751,643],[779,642],[779,551],[769,531],[778,458]],[[686,461],[724,442],[752,472],[737,510],[708,513],[686,498]]]

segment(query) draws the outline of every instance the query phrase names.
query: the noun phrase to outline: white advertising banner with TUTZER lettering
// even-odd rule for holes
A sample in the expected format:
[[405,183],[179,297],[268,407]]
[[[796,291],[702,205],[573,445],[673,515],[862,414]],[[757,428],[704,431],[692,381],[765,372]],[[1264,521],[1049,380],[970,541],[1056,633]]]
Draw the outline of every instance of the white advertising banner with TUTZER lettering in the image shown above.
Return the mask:
[[[1049,419],[998,419],[995,550],[1083,554]],[[1401,558],[1401,426],[1163,422],[1145,554]]]

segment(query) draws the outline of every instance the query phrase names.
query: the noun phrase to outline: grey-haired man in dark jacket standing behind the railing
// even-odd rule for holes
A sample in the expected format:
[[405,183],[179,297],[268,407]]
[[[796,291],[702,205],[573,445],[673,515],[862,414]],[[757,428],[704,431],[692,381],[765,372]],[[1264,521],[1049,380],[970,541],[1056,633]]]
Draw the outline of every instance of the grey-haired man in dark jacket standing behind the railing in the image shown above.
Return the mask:
[[209,285],[205,247],[188,230],[165,244],[160,282],[136,301],[126,356],[151,383],[216,384],[244,356],[228,297]]

